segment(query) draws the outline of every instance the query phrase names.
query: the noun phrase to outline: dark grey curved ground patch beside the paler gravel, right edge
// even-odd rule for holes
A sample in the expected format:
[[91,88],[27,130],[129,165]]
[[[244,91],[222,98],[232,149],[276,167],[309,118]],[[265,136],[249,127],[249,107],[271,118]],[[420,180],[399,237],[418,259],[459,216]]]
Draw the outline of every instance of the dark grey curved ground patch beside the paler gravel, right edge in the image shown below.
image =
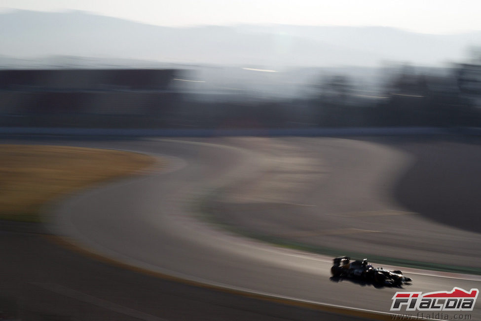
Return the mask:
[[395,189],[404,206],[452,227],[481,233],[481,138],[408,139],[417,160]]

